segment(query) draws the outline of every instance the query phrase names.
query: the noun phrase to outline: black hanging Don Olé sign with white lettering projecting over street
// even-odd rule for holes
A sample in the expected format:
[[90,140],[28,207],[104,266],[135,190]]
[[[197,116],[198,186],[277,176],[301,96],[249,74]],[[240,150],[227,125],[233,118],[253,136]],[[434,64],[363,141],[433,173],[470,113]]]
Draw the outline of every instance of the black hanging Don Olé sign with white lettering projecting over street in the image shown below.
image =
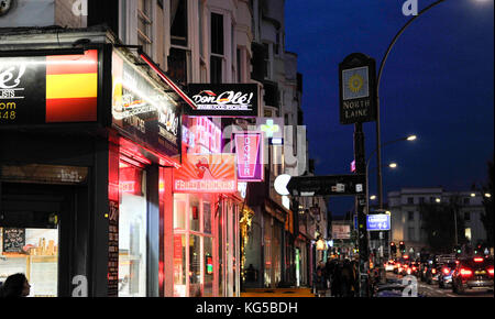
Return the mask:
[[198,109],[191,116],[257,117],[256,84],[189,84],[189,97]]

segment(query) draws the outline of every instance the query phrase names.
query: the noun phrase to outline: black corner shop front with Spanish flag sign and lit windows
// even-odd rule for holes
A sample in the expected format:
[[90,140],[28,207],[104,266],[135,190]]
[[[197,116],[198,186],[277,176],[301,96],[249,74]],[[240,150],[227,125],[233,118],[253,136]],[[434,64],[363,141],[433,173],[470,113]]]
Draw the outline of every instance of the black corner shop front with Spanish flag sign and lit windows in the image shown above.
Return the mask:
[[[90,46],[75,48],[81,36]],[[24,273],[31,296],[166,296],[187,101],[109,33],[67,31],[56,47],[29,53],[9,38],[0,51],[0,282]],[[202,218],[215,199],[195,200]],[[191,256],[215,246],[209,227],[194,221],[183,234]]]

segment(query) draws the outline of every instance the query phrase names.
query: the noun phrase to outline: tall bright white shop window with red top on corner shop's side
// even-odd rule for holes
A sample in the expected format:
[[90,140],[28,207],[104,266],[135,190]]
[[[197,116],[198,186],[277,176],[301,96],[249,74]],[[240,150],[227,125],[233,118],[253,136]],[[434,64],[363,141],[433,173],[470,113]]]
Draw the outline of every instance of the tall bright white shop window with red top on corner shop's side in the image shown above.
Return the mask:
[[121,162],[119,207],[119,296],[146,296],[146,174]]

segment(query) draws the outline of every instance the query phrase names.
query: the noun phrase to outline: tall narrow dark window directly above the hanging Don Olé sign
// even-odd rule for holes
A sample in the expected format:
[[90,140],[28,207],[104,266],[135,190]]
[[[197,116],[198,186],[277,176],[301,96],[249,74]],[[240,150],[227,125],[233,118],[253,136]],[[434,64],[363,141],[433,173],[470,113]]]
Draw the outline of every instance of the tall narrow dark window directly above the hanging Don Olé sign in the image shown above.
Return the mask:
[[221,84],[223,74],[223,15],[211,13],[210,82]]

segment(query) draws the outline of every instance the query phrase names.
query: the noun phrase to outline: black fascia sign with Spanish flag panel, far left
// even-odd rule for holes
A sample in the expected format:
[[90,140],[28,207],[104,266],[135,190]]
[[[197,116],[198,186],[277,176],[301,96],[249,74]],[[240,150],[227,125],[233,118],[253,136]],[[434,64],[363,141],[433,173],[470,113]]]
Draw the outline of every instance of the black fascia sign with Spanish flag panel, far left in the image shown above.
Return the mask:
[[98,51],[0,57],[0,125],[97,121]]

